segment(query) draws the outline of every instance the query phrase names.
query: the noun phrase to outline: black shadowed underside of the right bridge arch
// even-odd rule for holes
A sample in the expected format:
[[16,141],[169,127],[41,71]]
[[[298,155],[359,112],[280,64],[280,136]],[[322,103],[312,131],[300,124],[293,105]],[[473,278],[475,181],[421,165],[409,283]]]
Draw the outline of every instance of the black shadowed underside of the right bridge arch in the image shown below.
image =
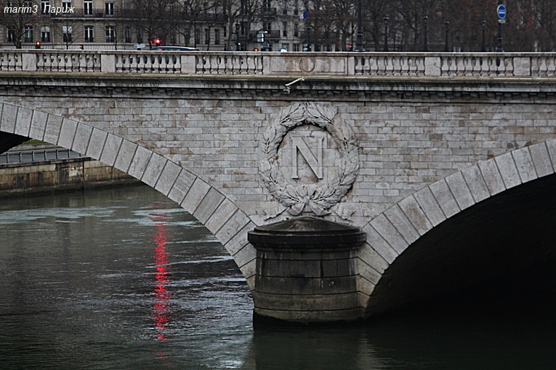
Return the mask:
[[439,224],[399,255],[376,285],[368,310],[382,313],[500,277],[520,279],[555,269],[555,226],[556,174],[494,195]]

